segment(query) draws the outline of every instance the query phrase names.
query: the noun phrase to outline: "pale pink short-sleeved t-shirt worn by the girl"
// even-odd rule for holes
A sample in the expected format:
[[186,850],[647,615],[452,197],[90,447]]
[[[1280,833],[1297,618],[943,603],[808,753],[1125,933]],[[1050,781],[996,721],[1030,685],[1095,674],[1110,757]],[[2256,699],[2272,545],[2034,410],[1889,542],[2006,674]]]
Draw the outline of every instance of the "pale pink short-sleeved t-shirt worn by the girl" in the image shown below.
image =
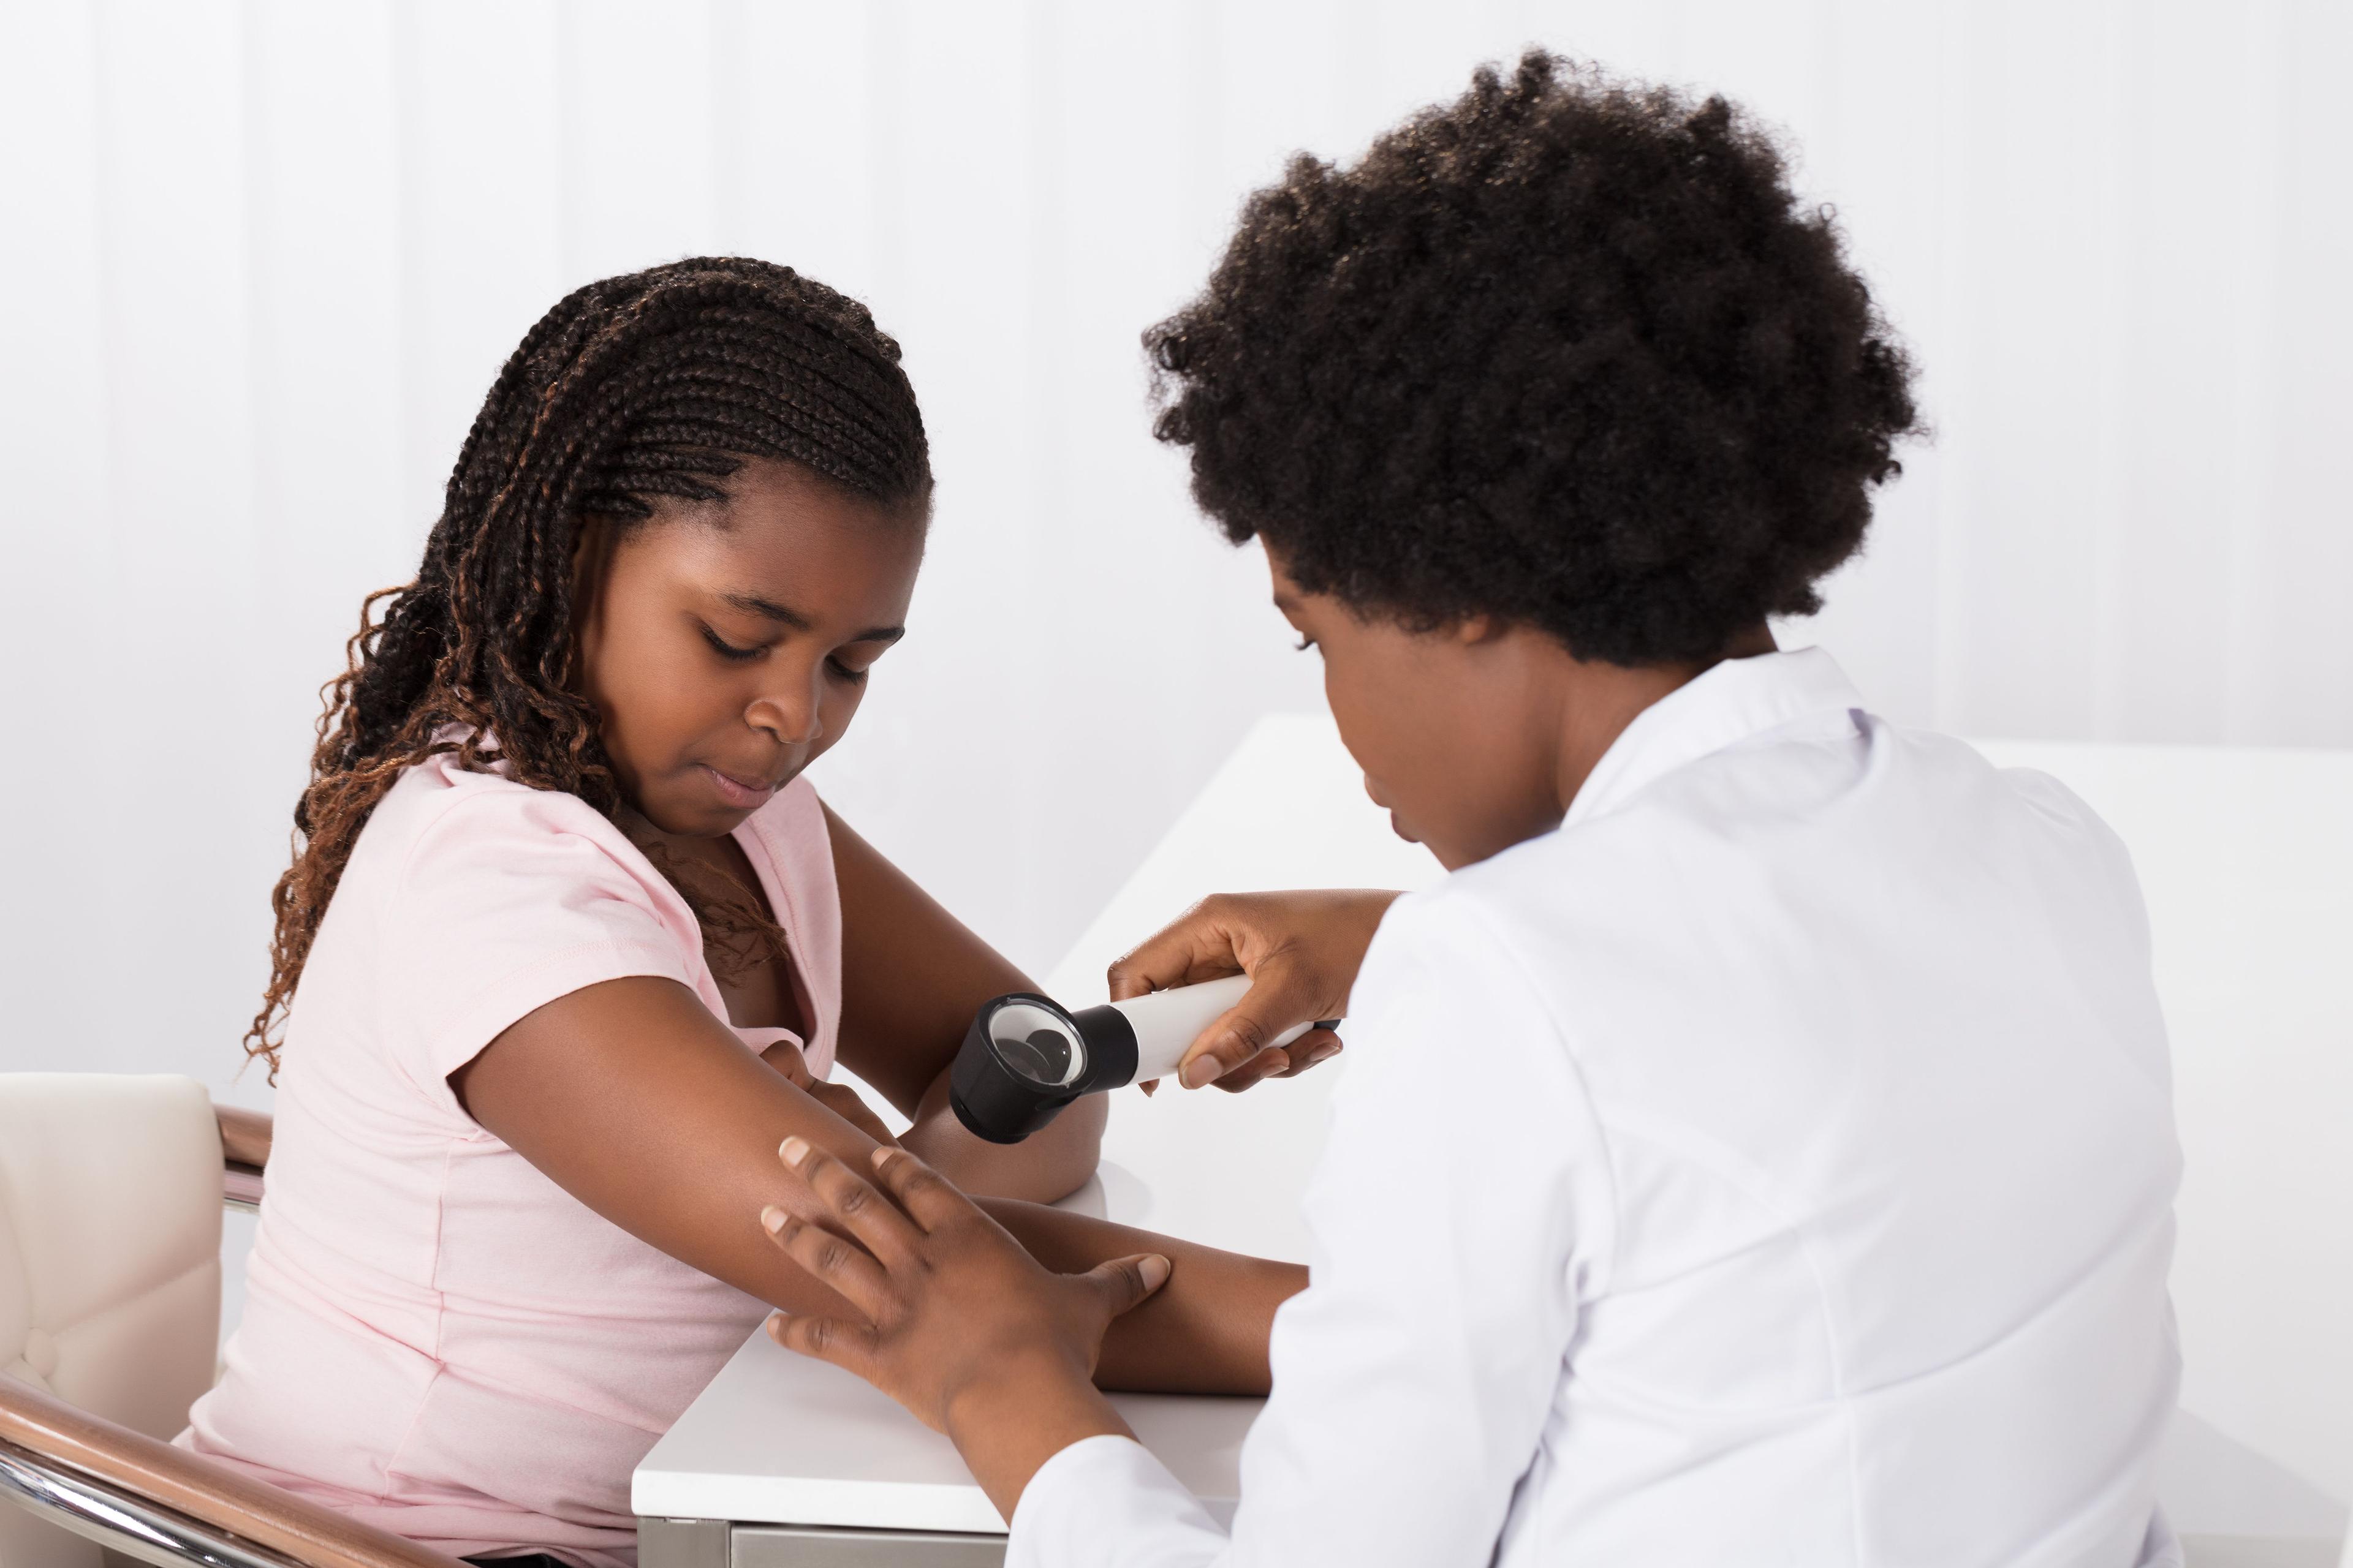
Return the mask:
[[[826,1077],[842,943],[816,790],[793,780],[734,837]],[[184,1446],[449,1554],[635,1561],[628,1472],[767,1307],[600,1218],[447,1084],[621,976],[727,1018],[687,903],[586,802],[447,757],[393,785],[294,994],[245,1319]]]

